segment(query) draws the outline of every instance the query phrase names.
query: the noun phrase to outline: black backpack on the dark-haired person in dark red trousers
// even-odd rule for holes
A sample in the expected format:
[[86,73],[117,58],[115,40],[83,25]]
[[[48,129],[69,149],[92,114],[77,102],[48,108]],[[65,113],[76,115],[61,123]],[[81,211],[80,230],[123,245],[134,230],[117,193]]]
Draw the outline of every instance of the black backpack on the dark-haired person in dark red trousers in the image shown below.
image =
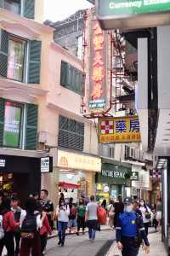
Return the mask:
[[37,215],[26,213],[21,226],[21,236],[29,236],[37,230]]

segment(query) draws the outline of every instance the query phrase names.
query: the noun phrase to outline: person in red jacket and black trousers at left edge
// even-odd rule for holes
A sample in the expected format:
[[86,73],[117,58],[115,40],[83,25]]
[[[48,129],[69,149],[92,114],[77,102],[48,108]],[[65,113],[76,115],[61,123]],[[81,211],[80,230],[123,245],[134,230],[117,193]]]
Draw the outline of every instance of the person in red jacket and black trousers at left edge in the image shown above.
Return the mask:
[[14,256],[14,230],[20,227],[20,222],[14,220],[14,212],[11,211],[9,198],[3,201],[0,209],[0,255],[2,255],[5,246],[8,255]]

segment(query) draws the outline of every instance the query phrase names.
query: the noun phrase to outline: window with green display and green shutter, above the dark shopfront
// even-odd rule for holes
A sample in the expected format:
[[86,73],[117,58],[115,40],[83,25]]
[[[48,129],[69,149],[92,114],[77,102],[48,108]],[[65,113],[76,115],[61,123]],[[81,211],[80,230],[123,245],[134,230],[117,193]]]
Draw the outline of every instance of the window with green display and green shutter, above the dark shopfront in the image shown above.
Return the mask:
[[0,98],[0,147],[37,148],[37,105]]

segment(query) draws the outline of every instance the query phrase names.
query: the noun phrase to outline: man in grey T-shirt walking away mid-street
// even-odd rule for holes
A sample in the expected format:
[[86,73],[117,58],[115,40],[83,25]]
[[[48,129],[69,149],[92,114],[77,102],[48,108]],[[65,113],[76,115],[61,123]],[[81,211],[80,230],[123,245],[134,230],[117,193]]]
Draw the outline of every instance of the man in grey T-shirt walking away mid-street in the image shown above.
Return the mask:
[[88,224],[89,241],[93,242],[98,226],[98,204],[94,200],[94,195],[90,196],[90,202],[86,207],[86,221]]

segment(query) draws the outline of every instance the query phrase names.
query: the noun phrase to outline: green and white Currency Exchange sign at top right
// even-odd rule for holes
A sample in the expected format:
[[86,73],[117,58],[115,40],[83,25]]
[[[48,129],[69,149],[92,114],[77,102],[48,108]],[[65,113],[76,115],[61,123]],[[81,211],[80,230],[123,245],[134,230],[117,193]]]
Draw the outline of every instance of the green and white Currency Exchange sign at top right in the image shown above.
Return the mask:
[[170,0],[96,0],[104,29],[170,24]]

